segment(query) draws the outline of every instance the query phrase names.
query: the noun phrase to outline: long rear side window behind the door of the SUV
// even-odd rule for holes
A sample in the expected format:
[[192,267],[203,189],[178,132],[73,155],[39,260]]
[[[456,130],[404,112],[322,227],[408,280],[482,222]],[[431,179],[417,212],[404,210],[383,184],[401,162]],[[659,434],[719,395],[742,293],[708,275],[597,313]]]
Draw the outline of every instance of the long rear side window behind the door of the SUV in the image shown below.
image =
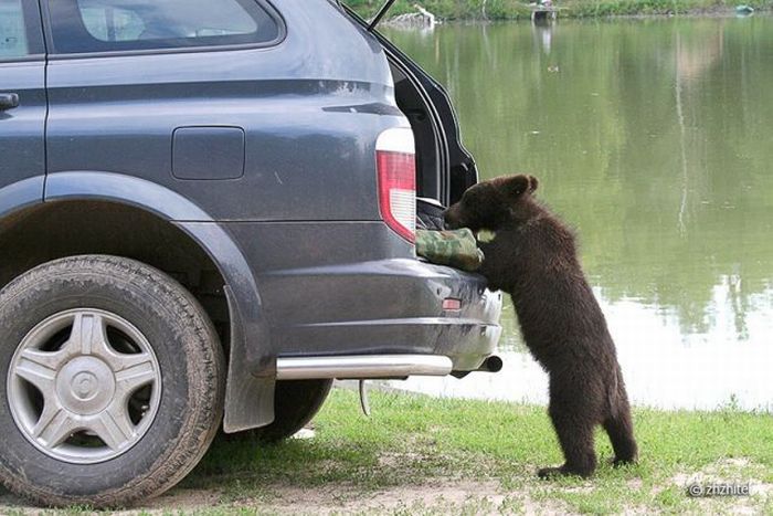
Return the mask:
[[280,34],[256,0],[49,0],[49,11],[54,52],[65,54],[268,43]]

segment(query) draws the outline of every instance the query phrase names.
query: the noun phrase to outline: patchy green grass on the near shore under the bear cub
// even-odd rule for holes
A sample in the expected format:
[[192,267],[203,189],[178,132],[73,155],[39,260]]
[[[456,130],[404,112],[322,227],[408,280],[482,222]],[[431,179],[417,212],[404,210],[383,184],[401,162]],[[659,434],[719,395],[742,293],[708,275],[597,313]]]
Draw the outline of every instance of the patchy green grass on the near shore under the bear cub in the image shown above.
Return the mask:
[[[219,504],[205,512],[272,507],[285,488],[340,489],[341,507],[363,493],[477,482],[495,485],[490,496],[436,506],[407,499],[390,512],[519,513],[546,508],[576,513],[754,512],[773,509],[772,494],[750,498],[690,498],[686,485],[701,482],[773,483],[773,421],[770,414],[735,409],[718,412],[634,413],[642,459],[615,470],[612,450],[597,435],[601,465],[593,480],[539,481],[539,466],[561,461],[544,408],[502,402],[437,400],[422,396],[372,394],[373,417],[359,413],[357,394],[333,391],[315,421],[313,440],[278,445],[218,442],[182,489],[212,489]],[[180,489],[178,489],[180,491]],[[399,496],[399,494],[396,495]],[[336,499],[336,495],[333,495]],[[448,505],[449,504],[449,505]]]

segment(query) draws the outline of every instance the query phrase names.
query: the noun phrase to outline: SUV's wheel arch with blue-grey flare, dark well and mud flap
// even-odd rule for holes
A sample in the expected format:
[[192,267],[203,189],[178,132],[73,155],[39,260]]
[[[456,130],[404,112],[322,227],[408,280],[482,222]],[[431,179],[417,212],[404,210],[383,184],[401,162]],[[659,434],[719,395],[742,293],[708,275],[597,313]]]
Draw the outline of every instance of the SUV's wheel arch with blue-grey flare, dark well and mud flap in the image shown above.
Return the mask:
[[[252,270],[222,224],[181,194],[136,177],[52,173],[42,200],[34,196],[42,182],[23,182],[0,190],[0,242],[7,257],[17,256],[0,262],[0,286],[44,261],[92,253],[140,260],[189,288],[204,284],[200,301],[220,283],[221,301],[202,305],[225,325],[221,335],[227,336],[225,431],[274,420],[275,354],[268,325]],[[121,234],[127,224],[133,230]],[[197,274],[198,283],[191,280]]]

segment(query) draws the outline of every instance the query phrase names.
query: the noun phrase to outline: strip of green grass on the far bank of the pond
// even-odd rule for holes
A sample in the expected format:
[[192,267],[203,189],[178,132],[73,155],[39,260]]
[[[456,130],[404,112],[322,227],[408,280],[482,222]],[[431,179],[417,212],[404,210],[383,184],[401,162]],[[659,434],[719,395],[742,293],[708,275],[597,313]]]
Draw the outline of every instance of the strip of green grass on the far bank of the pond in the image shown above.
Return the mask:
[[[345,0],[361,15],[369,18],[383,0]],[[415,0],[398,0],[391,15],[415,12]],[[513,20],[528,18],[528,0],[421,0],[424,8],[445,20]],[[739,3],[770,10],[772,0],[558,0],[561,17],[599,18],[611,15],[687,14],[732,12]]]

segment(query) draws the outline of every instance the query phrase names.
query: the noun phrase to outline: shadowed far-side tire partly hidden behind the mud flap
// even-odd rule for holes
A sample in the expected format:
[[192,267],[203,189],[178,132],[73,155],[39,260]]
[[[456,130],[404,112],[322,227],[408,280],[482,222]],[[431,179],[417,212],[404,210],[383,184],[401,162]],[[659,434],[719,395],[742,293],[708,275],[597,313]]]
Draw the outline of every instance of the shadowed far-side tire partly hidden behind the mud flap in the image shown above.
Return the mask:
[[319,412],[331,387],[332,380],[279,380],[274,391],[274,422],[260,429],[224,434],[223,439],[275,443],[290,438]]

